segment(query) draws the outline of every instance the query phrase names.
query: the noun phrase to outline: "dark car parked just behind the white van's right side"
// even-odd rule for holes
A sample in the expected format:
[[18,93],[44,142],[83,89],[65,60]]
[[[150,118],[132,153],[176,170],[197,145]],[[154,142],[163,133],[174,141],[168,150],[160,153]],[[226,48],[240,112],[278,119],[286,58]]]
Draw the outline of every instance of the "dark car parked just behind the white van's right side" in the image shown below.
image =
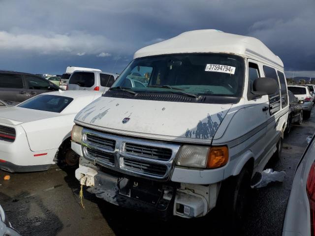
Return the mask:
[[304,103],[303,100],[298,100],[294,94],[288,90],[289,95],[289,115],[287,117],[287,124],[286,124],[286,133],[290,133],[291,124],[302,124],[303,120],[303,109],[302,104]]

